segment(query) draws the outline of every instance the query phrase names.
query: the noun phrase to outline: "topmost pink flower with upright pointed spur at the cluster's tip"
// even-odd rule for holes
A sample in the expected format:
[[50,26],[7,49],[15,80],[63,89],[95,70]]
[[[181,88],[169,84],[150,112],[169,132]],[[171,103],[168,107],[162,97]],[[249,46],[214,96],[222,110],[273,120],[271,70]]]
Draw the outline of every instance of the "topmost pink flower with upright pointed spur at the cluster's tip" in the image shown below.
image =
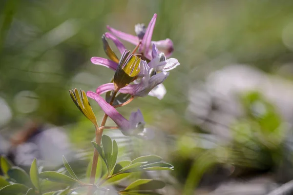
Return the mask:
[[157,19],[157,14],[154,14],[153,18],[150,20],[147,28],[144,24],[135,25],[135,33],[137,36],[130,35],[119,30],[116,30],[110,26],[107,26],[107,29],[113,33],[116,37],[126,40],[134,45],[138,45],[141,41],[139,53],[143,54],[147,59],[151,60],[151,47],[155,44],[160,52],[163,52],[167,58],[169,58],[173,53],[173,42],[171,39],[152,41],[152,34],[155,27]]

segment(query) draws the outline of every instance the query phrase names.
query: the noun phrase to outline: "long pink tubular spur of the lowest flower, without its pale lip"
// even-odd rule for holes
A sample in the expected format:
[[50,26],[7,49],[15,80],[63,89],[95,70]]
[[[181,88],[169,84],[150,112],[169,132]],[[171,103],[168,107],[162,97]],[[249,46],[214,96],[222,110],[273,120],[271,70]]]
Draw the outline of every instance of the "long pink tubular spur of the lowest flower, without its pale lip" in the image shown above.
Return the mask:
[[100,105],[105,114],[108,115],[118,125],[124,135],[129,135],[129,121],[121,114],[119,114],[113,106],[108,104],[104,98],[92,91],[86,92],[86,96],[94,99]]

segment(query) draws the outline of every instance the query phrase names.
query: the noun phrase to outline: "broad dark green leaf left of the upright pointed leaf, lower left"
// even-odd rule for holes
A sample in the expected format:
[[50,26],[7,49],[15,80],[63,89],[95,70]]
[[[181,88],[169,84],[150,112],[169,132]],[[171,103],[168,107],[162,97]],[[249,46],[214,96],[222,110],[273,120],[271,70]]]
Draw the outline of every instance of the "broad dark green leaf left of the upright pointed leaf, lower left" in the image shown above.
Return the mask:
[[33,184],[31,183],[30,177],[20,167],[11,167],[8,170],[7,175],[10,178],[14,179],[16,183],[21,183],[26,186],[33,187]]

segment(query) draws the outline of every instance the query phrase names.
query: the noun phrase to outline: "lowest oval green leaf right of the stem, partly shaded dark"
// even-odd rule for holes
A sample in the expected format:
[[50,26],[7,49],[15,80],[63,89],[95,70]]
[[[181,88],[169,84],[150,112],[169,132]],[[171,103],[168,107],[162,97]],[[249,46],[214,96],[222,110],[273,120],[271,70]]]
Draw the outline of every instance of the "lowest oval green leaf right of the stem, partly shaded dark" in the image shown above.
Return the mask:
[[165,183],[160,180],[153,179],[139,179],[132,182],[126,187],[124,191],[146,191],[146,190],[157,190],[165,187]]

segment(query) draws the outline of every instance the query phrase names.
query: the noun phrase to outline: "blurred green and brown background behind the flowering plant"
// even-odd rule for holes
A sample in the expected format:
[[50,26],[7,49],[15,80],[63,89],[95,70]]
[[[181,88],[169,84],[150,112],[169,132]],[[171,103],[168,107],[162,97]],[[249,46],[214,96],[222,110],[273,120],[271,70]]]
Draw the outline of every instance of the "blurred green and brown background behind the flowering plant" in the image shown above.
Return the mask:
[[106,131],[120,158],[171,162],[175,171],[149,175],[167,182],[166,195],[265,195],[292,180],[292,0],[1,0],[0,154],[23,167],[34,157],[56,167],[65,155],[83,174],[94,127],[68,90],[94,91],[112,78],[90,62],[106,58],[106,25],[135,34],[154,13],[153,40],[172,39],[181,65],[164,99],[119,108],[126,118],[141,109],[157,135]]

